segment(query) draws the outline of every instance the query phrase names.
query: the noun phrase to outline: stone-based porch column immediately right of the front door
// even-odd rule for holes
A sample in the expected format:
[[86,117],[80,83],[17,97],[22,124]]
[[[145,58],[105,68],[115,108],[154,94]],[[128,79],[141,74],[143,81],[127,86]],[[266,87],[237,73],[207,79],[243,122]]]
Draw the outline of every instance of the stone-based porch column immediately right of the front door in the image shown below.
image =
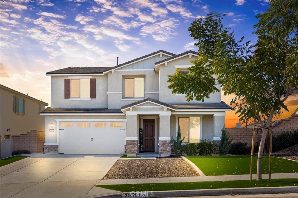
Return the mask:
[[165,111],[159,114],[159,154],[161,157],[171,154],[171,136],[170,136],[170,117],[171,111]]

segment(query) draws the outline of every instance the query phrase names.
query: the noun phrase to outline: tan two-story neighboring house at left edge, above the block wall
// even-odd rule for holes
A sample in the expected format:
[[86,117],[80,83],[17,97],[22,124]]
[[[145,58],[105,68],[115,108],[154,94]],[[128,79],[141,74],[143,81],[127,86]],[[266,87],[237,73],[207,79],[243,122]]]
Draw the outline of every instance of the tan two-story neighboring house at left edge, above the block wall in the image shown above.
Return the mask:
[[48,106],[41,100],[0,85],[1,138],[27,133],[30,129],[44,130],[44,116],[39,114]]

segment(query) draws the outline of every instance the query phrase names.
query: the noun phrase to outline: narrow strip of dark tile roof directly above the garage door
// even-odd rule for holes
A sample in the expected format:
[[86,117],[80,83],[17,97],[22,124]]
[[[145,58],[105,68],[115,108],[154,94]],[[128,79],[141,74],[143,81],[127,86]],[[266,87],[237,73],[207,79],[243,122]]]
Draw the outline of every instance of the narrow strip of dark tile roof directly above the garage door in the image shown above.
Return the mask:
[[123,114],[121,109],[108,109],[108,108],[52,108],[48,107],[44,111],[41,111],[41,113],[47,113],[47,114],[67,114],[67,113],[72,113],[72,114],[110,114],[110,113],[115,113],[115,114]]

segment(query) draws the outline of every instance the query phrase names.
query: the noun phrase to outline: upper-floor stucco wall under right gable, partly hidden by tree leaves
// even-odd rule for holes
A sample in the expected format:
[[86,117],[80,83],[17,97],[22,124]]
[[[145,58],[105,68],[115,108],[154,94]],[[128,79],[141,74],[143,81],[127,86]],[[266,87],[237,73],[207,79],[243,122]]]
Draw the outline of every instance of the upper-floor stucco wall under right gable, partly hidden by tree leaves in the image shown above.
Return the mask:
[[[189,59],[189,56],[184,56],[179,59],[170,61],[167,63],[167,67],[164,67],[164,65],[160,65],[159,67],[159,100],[166,103],[186,103],[187,100],[185,96],[176,96],[175,94],[172,94],[172,89],[168,89],[168,86],[170,83],[167,82],[168,75],[173,75],[176,73],[175,65],[192,65],[190,63],[190,60],[196,60],[196,56],[192,56],[191,59]],[[220,85],[216,85],[218,89],[220,89]],[[220,92],[215,92],[214,94],[209,95],[209,99],[205,98],[205,103],[220,103],[221,102],[221,94]],[[190,103],[198,103],[201,101],[192,100]]]

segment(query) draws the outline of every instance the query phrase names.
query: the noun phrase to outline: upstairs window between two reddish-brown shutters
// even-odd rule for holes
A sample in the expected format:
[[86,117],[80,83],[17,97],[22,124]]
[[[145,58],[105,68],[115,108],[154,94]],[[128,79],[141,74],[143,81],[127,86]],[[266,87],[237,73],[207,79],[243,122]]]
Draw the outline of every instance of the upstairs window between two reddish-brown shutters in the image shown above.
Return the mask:
[[90,98],[90,79],[71,79],[71,98]]

